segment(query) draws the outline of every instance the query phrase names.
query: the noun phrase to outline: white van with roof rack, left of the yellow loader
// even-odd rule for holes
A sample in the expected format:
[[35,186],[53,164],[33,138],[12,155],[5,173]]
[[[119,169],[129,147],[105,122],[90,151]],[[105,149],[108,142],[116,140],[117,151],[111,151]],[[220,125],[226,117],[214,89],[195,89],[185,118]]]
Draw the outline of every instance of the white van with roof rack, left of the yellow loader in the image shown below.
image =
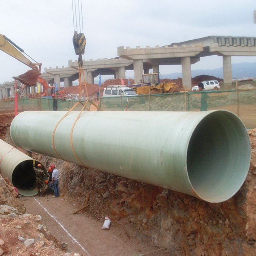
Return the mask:
[[[108,85],[104,88],[102,100],[103,104],[107,107],[111,105],[120,106],[121,101],[122,104],[126,104],[126,102],[139,102],[138,94],[130,87],[126,87],[125,85]],[[104,99],[105,98],[105,99]]]

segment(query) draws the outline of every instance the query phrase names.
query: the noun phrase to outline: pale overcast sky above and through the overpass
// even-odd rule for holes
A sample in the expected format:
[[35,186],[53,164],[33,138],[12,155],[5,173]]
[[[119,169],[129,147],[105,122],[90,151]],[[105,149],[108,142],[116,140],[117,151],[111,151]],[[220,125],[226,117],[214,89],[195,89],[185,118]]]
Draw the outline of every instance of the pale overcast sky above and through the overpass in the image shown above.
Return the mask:
[[[118,46],[155,47],[210,35],[255,37],[254,10],[255,0],[82,0],[83,59],[117,57]],[[43,63],[43,71],[77,60],[72,0],[0,0],[0,24],[0,33]],[[232,57],[232,63],[242,62],[256,62],[256,57]],[[191,69],[220,67],[222,57],[213,56]],[[27,70],[0,51],[1,84]],[[161,74],[180,71],[180,66],[160,66]]]

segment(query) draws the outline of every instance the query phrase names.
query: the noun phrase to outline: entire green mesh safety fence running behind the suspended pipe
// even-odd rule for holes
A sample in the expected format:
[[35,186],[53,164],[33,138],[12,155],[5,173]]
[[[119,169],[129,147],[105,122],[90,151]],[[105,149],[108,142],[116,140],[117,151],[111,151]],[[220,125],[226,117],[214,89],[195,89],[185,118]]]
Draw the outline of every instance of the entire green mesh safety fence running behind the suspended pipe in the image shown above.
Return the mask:
[[[201,98],[202,103],[201,103]],[[78,101],[58,100],[58,110],[68,111]],[[74,110],[81,110],[81,101]],[[188,91],[171,94],[150,94],[132,97],[117,96],[100,98],[99,107],[103,111],[200,111],[224,109],[238,115],[247,128],[256,127],[256,89],[230,89],[218,91]],[[86,108],[90,109],[87,102]],[[14,100],[0,100],[0,111],[15,108]],[[27,110],[52,111],[52,99],[22,98],[18,100],[18,112]],[[86,109],[85,109],[86,110]],[[94,108],[93,110],[97,110]]]

